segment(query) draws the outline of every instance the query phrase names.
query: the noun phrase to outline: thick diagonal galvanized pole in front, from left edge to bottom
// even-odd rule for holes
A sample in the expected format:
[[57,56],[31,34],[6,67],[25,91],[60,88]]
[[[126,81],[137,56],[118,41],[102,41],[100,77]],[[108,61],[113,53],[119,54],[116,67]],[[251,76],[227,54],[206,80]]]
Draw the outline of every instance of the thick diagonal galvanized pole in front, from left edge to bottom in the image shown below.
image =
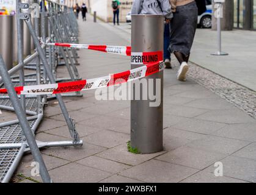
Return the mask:
[[10,101],[12,101],[12,105],[15,110],[16,116],[17,116],[18,120],[20,121],[20,125],[23,130],[24,137],[26,137],[26,141],[29,144],[32,155],[34,157],[34,160],[37,161],[40,165],[40,167],[39,167],[40,176],[42,177],[43,182],[50,183],[50,182],[52,182],[52,180],[49,177],[48,170],[45,166],[42,155],[40,154],[40,151],[37,147],[37,143],[35,141],[34,135],[29,126],[29,122],[27,122],[26,115],[24,113],[23,108],[21,107],[21,104],[20,104],[20,101],[16,94],[16,91],[13,88],[12,81],[11,81],[8,71],[4,65],[4,61],[2,60],[1,55],[0,55],[0,73],[1,73],[2,80],[5,85],[5,88],[7,89],[8,94],[10,96]]

